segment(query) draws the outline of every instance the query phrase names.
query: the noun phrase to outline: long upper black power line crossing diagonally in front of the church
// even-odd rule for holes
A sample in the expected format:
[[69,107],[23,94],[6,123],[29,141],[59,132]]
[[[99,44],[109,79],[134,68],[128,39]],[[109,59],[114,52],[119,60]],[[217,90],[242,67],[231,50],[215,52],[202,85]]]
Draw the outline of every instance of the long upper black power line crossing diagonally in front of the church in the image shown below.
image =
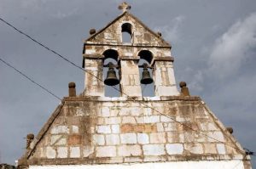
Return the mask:
[[[60,57],[61,59],[66,60],[66,61],[67,61],[68,63],[70,63],[71,65],[73,65],[73,66],[79,68],[80,70],[83,70],[83,71],[87,72],[88,74],[90,74],[90,76],[93,76],[93,77],[95,77],[96,79],[98,79],[99,81],[103,82],[103,80],[100,79],[98,76],[95,76],[93,73],[90,73],[90,71],[84,70],[84,68],[82,68],[81,66],[74,64],[71,60],[67,59],[66,57],[64,57],[64,56],[61,55],[61,54],[58,54],[57,52],[55,52],[55,50],[48,48],[48,47],[45,46],[42,42],[38,42],[35,38],[33,38],[33,37],[27,35],[25,32],[20,31],[20,30],[19,30],[18,28],[16,28],[14,25],[9,24],[9,22],[7,22],[6,20],[3,20],[2,18],[0,18],[0,20],[3,21],[3,23],[5,23],[6,25],[9,25],[9,26],[12,27],[13,29],[15,29],[15,31],[18,31],[20,34],[22,34],[22,35],[28,37],[28,38],[31,39],[33,42],[36,42],[39,46],[41,46],[41,47],[43,47],[43,48],[49,50],[51,53],[57,55],[57,56]],[[37,83],[36,83],[36,84],[37,84]],[[113,87],[113,86],[112,86],[112,87]],[[118,91],[119,93],[123,93],[123,94],[125,94],[125,96],[129,97],[128,94],[126,94],[126,93],[120,91],[117,87],[113,87],[113,89],[115,89],[115,90]],[[59,99],[59,98],[58,98],[58,99]],[[131,100],[132,100],[132,101],[136,101],[136,99],[133,99],[133,98],[131,98]],[[164,114],[164,113],[161,113],[159,110],[155,110],[153,107],[149,106],[148,104],[145,104],[145,103],[143,103],[143,102],[142,102],[142,104],[145,105],[146,107],[148,107],[149,109],[158,112],[160,115],[164,115],[164,116],[170,118],[172,121],[177,122],[178,124],[182,125],[183,127],[187,127],[187,128],[189,128],[190,130],[192,130],[192,131],[194,131],[194,132],[197,132],[197,133],[199,133],[199,134],[201,134],[201,135],[206,136],[207,138],[212,138],[211,136],[208,136],[208,135],[205,134],[205,133],[196,131],[196,130],[193,129],[192,127],[189,127],[188,125],[183,124],[183,123],[180,122],[180,121],[177,121],[176,119],[170,117],[169,115],[166,115],[166,114]],[[234,146],[232,146],[232,145],[230,145],[230,144],[226,144],[226,143],[224,143],[223,141],[220,141],[220,140],[218,140],[218,139],[216,139],[216,138],[212,138],[212,139],[215,140],[215,141],[217,141],[217,142],[219,142],[219,143],[228,145],[228,146],[230,146],[230,147],[232,147],[232,148],[234,148],[234,149],[238,149],[238,148],[236,148],[236,147],[234,147]],[[238,149],[238,150],[241,151],[241,153],[244,154],[244,151],[242,151],[241,149]]]

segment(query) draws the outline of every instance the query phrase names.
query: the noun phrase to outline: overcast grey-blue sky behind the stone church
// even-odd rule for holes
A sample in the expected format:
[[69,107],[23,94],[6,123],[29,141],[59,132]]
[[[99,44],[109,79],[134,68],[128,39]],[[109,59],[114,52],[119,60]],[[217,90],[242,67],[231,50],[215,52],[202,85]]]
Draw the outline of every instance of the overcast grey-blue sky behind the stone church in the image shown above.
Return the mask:
[[[134,14],[172,43],[177,82],[185,81],[247,149],[256,151],[256,1],[127,1]],[[82,65],[83,40],[121,11],[112,0],[0,0],[0,17]],[[53,91],[84,89],[84,72],[0,22],[0,57]],[[24,152],[59,104],[0,62],[0,163]],[[256,165],[255,157],[253,164]]]

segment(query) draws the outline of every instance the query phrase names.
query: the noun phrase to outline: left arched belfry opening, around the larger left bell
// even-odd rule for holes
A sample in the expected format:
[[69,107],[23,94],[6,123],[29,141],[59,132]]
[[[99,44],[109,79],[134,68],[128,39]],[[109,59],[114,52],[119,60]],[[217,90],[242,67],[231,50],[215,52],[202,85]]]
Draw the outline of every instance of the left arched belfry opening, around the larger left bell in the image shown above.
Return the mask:
[[[119,53],[116,50],[108,49],[104,53],[104,65],[108,65],[110,62],[113,63],[113,65],[118,65],[118,58]],[[117,68],[114,68],[115,75],[119,78],[119,70]],[[105,80],[107,78],[108,74],[108,67],[103,67],[103,79]],[[115,86],[108,86],[105,84],[105,96],[106,97],[119,97],[119,84]]]

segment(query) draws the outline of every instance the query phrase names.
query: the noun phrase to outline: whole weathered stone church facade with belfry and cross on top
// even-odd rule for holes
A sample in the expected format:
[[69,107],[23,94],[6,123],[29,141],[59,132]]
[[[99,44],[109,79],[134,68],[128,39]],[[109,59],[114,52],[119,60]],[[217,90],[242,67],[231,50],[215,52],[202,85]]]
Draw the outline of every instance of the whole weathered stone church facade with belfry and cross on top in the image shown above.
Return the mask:
[[[231,128],[200,97],[190,96],[185,82],[177,89],[171,45],[130,8],[122,3],[115,20],[90,30],[83,50],[84,91],[77,95],[69,83],[69,96],[36,137],[27,136],[19,167],[252,168]],[[131,41],[124,42],[122,32]],[[142,83],[154,83],[153,97],[143,97]],[[106,97],[106,85],[120,96]]]

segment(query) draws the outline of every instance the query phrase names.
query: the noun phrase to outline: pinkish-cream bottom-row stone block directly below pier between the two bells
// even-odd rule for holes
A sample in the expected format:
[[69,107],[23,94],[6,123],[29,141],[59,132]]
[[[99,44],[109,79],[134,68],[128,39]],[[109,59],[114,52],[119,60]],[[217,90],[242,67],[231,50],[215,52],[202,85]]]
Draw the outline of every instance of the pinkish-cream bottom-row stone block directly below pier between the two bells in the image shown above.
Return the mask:
[[139,145],[122,145],[118,148],[119,156],[138,156],[142,155],[142,149]]

